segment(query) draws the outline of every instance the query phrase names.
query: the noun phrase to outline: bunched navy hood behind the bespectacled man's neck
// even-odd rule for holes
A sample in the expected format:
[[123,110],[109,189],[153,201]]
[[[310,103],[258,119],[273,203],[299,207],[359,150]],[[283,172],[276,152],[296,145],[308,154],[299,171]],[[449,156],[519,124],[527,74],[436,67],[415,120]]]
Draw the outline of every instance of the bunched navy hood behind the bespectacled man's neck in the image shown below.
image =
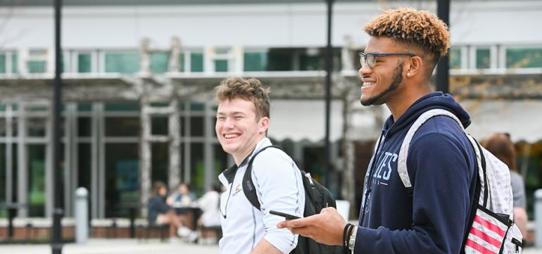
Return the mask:
[[427,110],[441,108],[448,110],[459,118],[464,128],[470,125],[470,115],[465,111],[450,94],[443,94],[441,91],[435,91],[412,103],[403,115],[393,122],[393,115],[384,122],[384,133],[386,136],[393,136],[401,129],[408,128],[422,113]]

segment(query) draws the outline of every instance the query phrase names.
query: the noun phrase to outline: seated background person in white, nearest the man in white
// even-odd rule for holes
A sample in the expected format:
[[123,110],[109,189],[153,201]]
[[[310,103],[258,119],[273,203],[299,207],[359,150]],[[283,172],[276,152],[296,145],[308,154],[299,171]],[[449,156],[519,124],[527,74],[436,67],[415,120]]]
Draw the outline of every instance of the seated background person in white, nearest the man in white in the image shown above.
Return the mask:
[[[203,212],[198,220],[198,226],[201,230],[201,240],[203,243],[215,243],[218,236],[214,235],[213,230],[205,228],[218,227],[220,228],[220,193],[222,192],[222,184],[215,183],[209,191],[207,191],[198,201],[199,208]],[[209,238],[213,236],[215,239]],[[206,240],[206,242],[204,241]]]

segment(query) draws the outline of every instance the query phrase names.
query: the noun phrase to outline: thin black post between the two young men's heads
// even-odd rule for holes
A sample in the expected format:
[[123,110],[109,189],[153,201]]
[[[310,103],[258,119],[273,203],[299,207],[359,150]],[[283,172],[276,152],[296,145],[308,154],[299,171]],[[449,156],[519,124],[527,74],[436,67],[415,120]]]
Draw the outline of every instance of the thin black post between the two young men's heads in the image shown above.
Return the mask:
[[326,136],[324,141],[324,184],[329,186],[329,171],[331,164],[329,162],[329,111],[331,108],[332,98],[332,71],[333,71],[333,49],[332,49],[332,7],[333,0],[326,0],[327,4],[327,46],[325,57],[326,68]]

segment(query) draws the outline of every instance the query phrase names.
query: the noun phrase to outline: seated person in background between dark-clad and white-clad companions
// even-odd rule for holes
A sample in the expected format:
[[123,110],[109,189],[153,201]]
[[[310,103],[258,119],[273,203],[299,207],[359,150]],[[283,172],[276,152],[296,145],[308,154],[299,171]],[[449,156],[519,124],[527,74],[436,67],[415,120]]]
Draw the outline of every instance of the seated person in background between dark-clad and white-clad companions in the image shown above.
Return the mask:
[[[196,205],[196,195],[190,192],[188,184],[181,183],[177,187],[177,191],[174,191],[166,200],[168,205],[171,205],[175,208],[185,208]],[[194,213],[189,210],[179,209],[177,210],[177,215],[182,224],[187,225],[192,230],[196,229],[194,225]]]

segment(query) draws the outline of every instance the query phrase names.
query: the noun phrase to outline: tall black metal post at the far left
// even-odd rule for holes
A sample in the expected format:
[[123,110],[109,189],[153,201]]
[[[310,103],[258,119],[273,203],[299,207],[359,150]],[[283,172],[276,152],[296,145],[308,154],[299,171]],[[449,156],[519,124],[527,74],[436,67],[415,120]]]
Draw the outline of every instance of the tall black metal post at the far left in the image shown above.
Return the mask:
[[62,0],[54,0],[55,13],[55,78],[53,106],[53,234],[51,249],[53,254],[62,253],[62,168],[61,168],[61,101],[62,101],[62,48],[61,48],[61,6]]

